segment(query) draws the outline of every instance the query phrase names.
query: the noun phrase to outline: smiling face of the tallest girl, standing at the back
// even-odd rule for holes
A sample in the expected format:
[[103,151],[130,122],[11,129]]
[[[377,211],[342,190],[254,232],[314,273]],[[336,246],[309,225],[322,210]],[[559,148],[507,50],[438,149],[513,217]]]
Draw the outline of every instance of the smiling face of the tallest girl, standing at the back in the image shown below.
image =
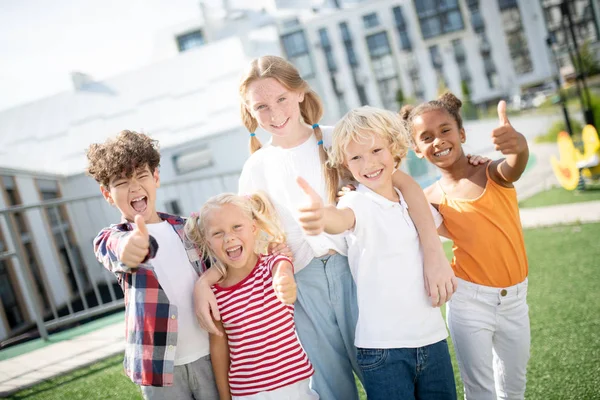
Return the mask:
[[304,93],[288,90],[275,78],[265,78],[248,85],[246,100],[258,125],[276,138],[298,131]]

